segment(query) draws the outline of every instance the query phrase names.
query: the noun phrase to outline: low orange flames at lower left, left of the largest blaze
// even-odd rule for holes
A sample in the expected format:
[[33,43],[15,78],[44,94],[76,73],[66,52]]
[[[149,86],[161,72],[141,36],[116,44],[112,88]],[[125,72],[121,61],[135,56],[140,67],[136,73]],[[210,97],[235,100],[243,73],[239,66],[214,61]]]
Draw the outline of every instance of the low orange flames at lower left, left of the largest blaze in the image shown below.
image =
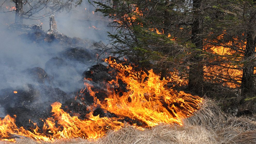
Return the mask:
[[[118,130],[122,128],[123,123],[116,121],[117,118],[107,118],[93,116],[92,113],[88,114],[87,120],[81,120],[77,116],[71,117],[68,113],[63,111],[61,103],[52,103],[52,113],[54,118],[47,118],[44,120],[43,131],[49,134],[39,133],[39,128],[34,123],[35,128],[31,131],[25,130],[23,127],[18,128],[15,125],[15,118],[10,115],[0,119],[0,140],[15,141],[9,137],[13,134],[33,138],[37,141],[43,140],[53,142],[54,139],[71,139],[71,138],[87,138],[97,139],[102,137],[107,130]],[[57,122],[56,122],[57,121]]]

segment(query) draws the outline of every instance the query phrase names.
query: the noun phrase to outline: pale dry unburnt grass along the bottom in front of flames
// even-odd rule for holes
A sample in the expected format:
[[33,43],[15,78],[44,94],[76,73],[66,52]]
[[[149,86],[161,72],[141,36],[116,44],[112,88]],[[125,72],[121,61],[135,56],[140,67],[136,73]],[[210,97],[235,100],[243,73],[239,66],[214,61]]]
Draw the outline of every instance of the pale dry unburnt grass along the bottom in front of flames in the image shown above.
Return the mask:
[[[1,143],[1,142],[0,142]],[[5,142],[9,143],[9,142]],[[20,139],[16,144],[37,144],[32,139]],[[49,144],[47,142],[42,142]],[[194,116],[184,120],[184,125],[158,125],[140,131],[132,126],[98,140],[57,140],[56,144],[204,144],[204,143],[256,143],[254,117],[233,117],[223,114],[214,101],[205,100]]]

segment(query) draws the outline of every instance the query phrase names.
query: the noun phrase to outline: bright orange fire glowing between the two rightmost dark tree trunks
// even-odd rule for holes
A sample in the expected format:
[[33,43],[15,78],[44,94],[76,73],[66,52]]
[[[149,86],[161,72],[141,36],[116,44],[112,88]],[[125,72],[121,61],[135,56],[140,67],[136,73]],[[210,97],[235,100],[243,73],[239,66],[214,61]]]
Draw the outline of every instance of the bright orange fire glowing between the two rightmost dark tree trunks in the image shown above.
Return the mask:
[[[223,36],[226,32],[217,37],[216,40],[211,41],[212,43],[219,43],[223,41]],[[241,83],[243,71],[242,65],[234,65],[228,61],[239,61],[242,60],[246,42],[239,41],[238,38],[233,38],[233,41],[221,43],[223,46],[206,44],[203,49],[207,52],[215,54],[216,56],[210,60],[212,61],[223,61],[220,62],[219,66],[204,66],[204,75],[206,81],[211,82],[222,82],[224,86],[235,88]],[[237,51],[229,47],[238,47]],[[238,57],[233,58],[230,55],[236,54]]]

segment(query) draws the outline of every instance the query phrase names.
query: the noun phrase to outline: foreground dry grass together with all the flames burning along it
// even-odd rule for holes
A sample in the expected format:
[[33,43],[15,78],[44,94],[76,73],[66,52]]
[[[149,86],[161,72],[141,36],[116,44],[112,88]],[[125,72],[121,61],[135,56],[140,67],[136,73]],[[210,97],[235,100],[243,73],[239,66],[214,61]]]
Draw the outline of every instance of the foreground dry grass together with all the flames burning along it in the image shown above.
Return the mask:
[[[85,78],[81,95],[89,93],[94,99],[85,119],[70,116],[61,109],[61,103],[55,102],[51,105],[53,117],[43,120],[43,132],[38,131],[36,124],[33,132],[18,128],[14,119],[7,116],[0,121],[1,138],[11,141],[17,134],[37,140],[17,139],[17,143],[256,142],[254,120],[226,115],[216,102],[206,99],[201,103],[202,98],[168,89],[167,81],[160,81],[152,71],[136,72],[130,65],[106,61],[117,70],[116,80],[104,84],[107,97],[100,100],[92,79]],[[126,91],[114,89],[120,87],[118,79],[126,84]],[[93,111],[98,107],[114,116],[94,116]],[[126,117],[141,122],[139,128],[132,126],[135,123],[126,123]]]

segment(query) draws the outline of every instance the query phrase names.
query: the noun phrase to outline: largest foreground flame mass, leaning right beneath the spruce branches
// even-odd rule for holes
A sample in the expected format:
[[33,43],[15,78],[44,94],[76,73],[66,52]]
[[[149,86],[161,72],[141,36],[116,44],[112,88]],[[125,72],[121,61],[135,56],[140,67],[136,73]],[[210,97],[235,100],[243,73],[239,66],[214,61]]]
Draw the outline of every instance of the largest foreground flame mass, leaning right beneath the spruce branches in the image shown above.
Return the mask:
[[99,101],[95,97],[95,92],[92,93],[91,86],[85,84],[92,93],[91,96],[97,99],[97,103],[111,113],[137,119],[151,127],[160,123],[182,125],[183,118],[191,116],[199,109],[198,104],[202,102],[202,98],[182,91],[178,93],[173,89],[166,89],[164,85],[167,84],[167,80],[161,81],[152,69],[148,71],[149,75],[144,71],[140,71],[141,74],[139,74],[132,70],[131,66],[123,66],[122,63],[116,63],[115,60],[110,59],[105,61],[119,71],[116,80],[112,80],[109,84],[118,85],[117,81],[121,79],[127,84],[129,91],[122,92],[120,97],[121,92],[114,92],[108,85],[108,98],[105,101]]

